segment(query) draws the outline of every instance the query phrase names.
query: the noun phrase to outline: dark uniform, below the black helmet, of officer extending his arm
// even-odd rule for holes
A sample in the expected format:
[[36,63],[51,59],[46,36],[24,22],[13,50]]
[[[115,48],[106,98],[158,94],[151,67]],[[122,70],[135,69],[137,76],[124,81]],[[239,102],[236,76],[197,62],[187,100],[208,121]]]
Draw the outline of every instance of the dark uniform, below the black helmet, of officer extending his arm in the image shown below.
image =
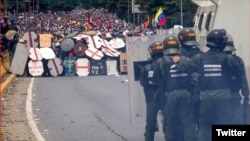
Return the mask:
[[[230,74],[233,76],[239,76],[240,67],[237,61],[232,55],[226,55],[223,57],[223,53],[220,50],[211,49],[206,54],[208,54],[210,59],[219,60],[215,56],[221,56],[220,59],[223,61],[221,63],[226,66],[227,69],[223,69],[223,72],[213,72],[205,73],[206,70],[220,70],[221,68],[216,68],[221,64],[216,64],[213,62],[210,66],[208,64],[203,64],[203,56],[198,54],[194,56],[190,61],[184,63],[177,63],[177,66],[181,69],[188,69],[189,71],[197,71],[201,74],[201,79],[199,82],[200,87],[200,128],[198,133],[198,141],[211,141],[211,126],[212,124],[229,124],[229,118],[231,115],[231,91],[229,84]],[[211,68],[206,68],[206,67]],[[213,68],[215,67],[215,68]],[[227,73],[228,72],[228,73]],[[217,76],[219,74],[228,75],[228,77],[218,79],[220,81],[209,80],[206,76]],[[209,81],[206,81],[208,79]],[[207,85],[207,86],[206,86]]]

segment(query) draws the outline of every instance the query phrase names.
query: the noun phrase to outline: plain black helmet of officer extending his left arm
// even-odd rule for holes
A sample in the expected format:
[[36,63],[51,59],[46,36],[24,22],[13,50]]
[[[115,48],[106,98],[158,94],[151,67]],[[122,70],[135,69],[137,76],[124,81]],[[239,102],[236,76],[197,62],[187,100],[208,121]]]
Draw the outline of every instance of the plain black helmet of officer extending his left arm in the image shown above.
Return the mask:
[[207,35],[206,46],[223,50],[227,44],[227,34],[225,29],[214,29]]

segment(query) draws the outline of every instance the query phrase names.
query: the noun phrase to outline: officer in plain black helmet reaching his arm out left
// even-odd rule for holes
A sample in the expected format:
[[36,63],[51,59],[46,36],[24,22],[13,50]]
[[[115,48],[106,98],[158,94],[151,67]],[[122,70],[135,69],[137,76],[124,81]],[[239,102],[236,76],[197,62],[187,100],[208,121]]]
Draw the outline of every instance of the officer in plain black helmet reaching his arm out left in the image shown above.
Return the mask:
[[172,57],[181,70],[198,72],[200,76],[200,122],[198,141],[211,141],[212,124],[229,124],[231,112],[230,79],[238,77],[241,68],[236,59],[223,52],[226,47],[226,30],[214,29],[207,35],[209,50],[181,62],[179,56]]

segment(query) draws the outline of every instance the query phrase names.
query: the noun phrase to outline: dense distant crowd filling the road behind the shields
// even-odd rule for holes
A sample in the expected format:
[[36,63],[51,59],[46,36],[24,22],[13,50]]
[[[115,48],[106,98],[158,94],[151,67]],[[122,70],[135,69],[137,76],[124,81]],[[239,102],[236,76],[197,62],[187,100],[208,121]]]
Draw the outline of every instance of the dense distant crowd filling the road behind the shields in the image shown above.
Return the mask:
[[10,29],[19,32],[35,31],[39,34],[51,33],[53,35],[67,35],[79,30],[99,30],[121,36],[153,33],[145,29],[143,24],[128,23],[104,8],[84,10],[80,7],[68,12],[8,13],[2,17],[1,29],[2,34]]

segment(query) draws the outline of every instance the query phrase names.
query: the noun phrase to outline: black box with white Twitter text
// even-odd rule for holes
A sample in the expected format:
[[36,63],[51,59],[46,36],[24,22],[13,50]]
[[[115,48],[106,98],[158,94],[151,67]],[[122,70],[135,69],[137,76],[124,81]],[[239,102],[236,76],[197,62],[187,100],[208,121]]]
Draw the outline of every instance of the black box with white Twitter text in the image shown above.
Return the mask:
[[250,125],[212,125],[212,141],[250,140]]

